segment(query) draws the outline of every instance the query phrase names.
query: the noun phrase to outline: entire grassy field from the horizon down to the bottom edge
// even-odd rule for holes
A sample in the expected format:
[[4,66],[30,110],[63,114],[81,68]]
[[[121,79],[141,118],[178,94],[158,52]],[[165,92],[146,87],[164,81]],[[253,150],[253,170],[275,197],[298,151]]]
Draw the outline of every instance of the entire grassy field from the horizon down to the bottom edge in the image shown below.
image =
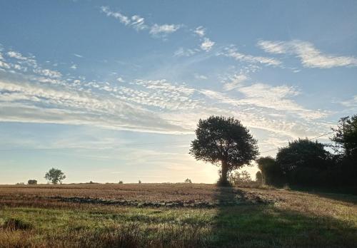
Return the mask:
[[[45,191],[41,187],[45,186],[0,186],[0,247],[356,247],[357,244],[357,197],[352,195],[225,189],[213,185],[141,185],[140,189],[137,185],[71,188],[63,185]],[[87,187],[93,187],[93,191],[98,187],[107,189],[101,200],[110,195],[107,198],[111,204],[71,201],[74,199],[69,197],[71,190]],[[159,197],[161,187],[168,197]],[[54,189],[56,197],[51,193]],[[149,196],[154,195],[152,190],[157,195],[151,201],[170,203],[152,207],[112,201],[130,190],[135,190],[135,194],[141,190],[144,195],[134,194],[133,202],[142,198],[149,202]],[[205,199],[210,204],[202,204],[203,199],[197,193],[200,190],[206,192]],[[191,196],[185,192],[191,192]],[[197,199],[199,205],[171,204]]]

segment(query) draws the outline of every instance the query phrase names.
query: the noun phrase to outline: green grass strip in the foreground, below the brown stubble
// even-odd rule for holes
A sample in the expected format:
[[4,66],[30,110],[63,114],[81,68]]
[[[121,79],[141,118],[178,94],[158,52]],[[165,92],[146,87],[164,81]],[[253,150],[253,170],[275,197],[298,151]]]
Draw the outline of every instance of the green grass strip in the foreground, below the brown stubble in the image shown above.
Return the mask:
[[[1,247],[16,243],[26,246],[26,242],[35,246],[55,242],[59,247],[144,247],[147,244],[164,247],[353,247],[357,242],[356,223],[311,217],[266,205],[221,209],[4,207],[0,218],[3,222],[11,218],[31,223],[31,229],[26,230],[4,228],[0,236]],[[7,241],[6,232],[13,233]]]

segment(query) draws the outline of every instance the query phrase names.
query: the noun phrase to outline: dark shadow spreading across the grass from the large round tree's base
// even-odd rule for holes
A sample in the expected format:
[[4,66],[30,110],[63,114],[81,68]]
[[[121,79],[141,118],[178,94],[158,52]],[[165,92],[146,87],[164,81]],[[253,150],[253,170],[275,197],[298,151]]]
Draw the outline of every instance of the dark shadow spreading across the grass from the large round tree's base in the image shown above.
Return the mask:
[[354,247],[357,243],[353,223],[283,210],[236,188],[218,187],[216,200],[220,205],[211,247]]

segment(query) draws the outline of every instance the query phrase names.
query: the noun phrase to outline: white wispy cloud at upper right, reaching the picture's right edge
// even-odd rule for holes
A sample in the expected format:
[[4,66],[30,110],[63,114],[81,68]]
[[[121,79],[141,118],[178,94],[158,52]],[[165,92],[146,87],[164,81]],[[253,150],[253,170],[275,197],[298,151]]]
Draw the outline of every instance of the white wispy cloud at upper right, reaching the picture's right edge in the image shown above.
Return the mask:
[[353,56],[333,56],[324,54],[308,41],[258,41],[258,47],[268,53],[291,54],[300,59],[307,68],[333,68],[338,66],[357,66]]

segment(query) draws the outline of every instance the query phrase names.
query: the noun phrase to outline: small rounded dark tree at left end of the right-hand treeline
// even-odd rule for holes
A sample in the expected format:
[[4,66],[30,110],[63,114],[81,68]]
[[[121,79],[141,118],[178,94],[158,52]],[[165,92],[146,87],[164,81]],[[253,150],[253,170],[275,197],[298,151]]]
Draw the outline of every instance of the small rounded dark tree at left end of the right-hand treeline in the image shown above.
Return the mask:
[[259,157],[256,162],[261,170],[263,185],[279,186],[283,183],[283,170],[273,157]]

